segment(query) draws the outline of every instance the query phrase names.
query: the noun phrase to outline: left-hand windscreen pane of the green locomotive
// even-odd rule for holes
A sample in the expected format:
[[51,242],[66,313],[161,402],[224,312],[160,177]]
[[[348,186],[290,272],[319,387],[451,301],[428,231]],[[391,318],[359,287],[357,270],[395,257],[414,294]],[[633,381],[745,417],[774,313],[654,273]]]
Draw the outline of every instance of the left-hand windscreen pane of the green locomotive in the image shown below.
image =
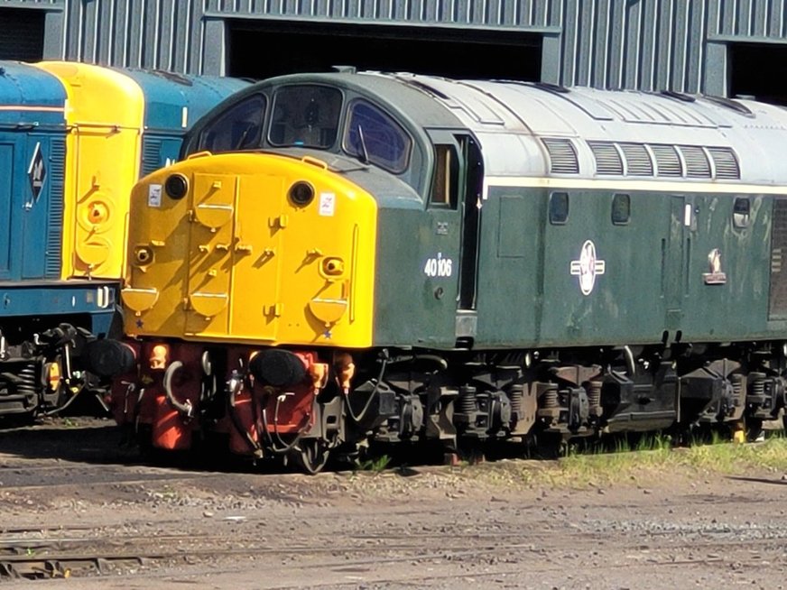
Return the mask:
[[199,134],[198,151],[234,152],[259,147],[266,103],[265,97],[257,94],[233,106]]

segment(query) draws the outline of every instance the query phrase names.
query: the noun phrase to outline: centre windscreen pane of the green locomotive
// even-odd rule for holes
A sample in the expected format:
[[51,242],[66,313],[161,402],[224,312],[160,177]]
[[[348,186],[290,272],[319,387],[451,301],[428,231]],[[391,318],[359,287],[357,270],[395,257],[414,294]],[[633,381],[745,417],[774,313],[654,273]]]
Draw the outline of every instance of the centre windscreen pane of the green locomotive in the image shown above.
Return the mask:
[[315,85],[280,88],[273,97],[268,140],[280,147],[327,149],[336,143],[342,95]]

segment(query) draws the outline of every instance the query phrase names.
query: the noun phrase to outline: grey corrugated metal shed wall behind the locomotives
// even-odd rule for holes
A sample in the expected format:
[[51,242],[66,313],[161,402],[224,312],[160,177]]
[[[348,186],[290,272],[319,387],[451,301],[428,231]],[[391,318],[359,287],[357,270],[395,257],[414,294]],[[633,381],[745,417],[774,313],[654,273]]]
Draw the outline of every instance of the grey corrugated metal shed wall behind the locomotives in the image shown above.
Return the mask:
[[43,8],[48,57],[222,73],[227,18],[542,32],[565,85],[719,92],[727,41],[784,41],[783,0],[0,0]]

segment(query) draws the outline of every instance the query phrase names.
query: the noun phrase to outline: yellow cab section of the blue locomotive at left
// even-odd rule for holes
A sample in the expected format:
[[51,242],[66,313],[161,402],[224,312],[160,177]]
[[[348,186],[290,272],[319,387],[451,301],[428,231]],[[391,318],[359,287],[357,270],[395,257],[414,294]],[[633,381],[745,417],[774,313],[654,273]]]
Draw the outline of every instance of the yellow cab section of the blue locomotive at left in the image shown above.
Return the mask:
[[[125,261],[128,198],[140,176],[145,98],[114,69],[42,61],[66,89],[62,278],[116,278]],[[123,157],[118,157],[122,154]]]

